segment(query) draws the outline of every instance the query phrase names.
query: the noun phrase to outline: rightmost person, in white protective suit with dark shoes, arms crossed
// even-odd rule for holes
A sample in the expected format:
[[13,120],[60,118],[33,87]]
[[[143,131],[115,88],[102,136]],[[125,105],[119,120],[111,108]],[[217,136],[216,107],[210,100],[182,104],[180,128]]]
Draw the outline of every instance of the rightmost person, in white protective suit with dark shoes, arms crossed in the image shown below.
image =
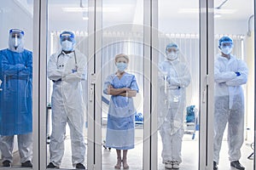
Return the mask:
[[222,144],[224,129],[228,123],[228,144],[230,166],[242,167],[241,144],[244,131],[244,99],[241,85],[247,82],[247,65],[231,54],[233,40],[221,37],[218,41],[218,54],[214,63],[214,157],[213,169],[218,169],[219,151]]

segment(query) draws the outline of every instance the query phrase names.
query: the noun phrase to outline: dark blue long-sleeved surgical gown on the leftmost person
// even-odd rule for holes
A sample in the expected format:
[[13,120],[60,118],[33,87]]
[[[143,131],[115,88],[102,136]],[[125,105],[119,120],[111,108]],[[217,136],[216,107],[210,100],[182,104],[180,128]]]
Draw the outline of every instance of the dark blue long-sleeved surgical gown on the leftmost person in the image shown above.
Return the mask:
[[0,135],[32,133],[32,52],[0,51]]

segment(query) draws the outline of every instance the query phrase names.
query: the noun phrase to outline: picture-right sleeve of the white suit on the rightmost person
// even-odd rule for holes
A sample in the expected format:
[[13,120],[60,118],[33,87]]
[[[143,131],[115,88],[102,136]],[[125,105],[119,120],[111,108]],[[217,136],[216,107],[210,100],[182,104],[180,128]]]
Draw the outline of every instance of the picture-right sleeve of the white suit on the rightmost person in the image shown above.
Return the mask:
[[247,65],[244,61],[238,60],[238,69],[236,72],[240,73],[239,77],[236,77],[230,81],[227,81],[226,84],[228,86],[241,86],[242,84],[247,83],[248,69]]

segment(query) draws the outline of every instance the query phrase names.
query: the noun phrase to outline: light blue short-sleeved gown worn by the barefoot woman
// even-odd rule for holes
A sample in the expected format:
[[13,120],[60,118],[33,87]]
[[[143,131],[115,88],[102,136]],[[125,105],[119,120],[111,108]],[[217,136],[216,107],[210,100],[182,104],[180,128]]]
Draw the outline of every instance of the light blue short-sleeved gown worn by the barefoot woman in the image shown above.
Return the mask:
[[[134,75],[125,73],[119,79],[116,75],[107,77],[104,83],[104,93],[108,94],[108,86],[113,88],[131,88],[138,92]],[[117,150],[134,148],[134,114],[133,99],[112,95],[109,101],[106,146]]]

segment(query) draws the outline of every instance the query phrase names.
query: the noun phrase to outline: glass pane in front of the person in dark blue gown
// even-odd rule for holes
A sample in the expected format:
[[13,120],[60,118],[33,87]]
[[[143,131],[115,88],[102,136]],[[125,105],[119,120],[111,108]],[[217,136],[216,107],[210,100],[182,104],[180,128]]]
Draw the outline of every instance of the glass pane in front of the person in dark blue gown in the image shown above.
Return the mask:
[[0,3],[0,167],[32,167],[33,3]]

